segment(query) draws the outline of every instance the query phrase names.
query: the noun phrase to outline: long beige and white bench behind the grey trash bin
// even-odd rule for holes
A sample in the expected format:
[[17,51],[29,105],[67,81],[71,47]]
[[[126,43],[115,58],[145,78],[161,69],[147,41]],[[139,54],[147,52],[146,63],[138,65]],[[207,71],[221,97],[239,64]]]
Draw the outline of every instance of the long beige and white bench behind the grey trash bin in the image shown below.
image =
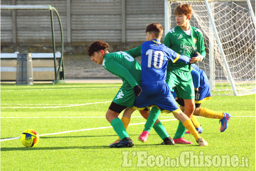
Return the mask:
[[[1,81],[15,81],[17,71],[17,54],[1,53]],[[58,70],[60,52],[56,52],[56,70]],[[52,81],[55,79],[54,74],[54,57],[53,53],[32,53],[33,80],[34,81]],[[58,78],[59,79],[59,75]]]

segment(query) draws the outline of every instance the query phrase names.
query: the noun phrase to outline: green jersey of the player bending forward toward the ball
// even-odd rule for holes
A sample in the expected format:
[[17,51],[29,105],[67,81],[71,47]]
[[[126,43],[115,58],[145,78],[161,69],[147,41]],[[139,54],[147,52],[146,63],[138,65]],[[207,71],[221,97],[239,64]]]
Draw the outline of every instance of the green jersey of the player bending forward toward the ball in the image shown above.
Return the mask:
[[142,69],[140,64],[134,59],[140,55],[139,47],[125,52],[108,53],[104,55],[102,66],[123,80],[123,89],[131,89],[141,83]]

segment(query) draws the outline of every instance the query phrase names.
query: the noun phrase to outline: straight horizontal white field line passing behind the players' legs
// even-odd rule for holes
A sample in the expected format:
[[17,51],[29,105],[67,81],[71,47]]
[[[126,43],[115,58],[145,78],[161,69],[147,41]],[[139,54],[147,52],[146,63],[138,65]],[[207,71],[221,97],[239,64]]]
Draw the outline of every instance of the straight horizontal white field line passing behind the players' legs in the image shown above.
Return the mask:
[[[142,116],[131,116],[131,117],[141,117]],[[159,118],[170,118],[174,116],[158,116]],[[196,116],[196,117],[202,117],[202,116]],[[255,117],[255,116],[232,116],[232,117]],[[105,116],[35,116],[35,117],[0,117],[0,118],[105,118]]]

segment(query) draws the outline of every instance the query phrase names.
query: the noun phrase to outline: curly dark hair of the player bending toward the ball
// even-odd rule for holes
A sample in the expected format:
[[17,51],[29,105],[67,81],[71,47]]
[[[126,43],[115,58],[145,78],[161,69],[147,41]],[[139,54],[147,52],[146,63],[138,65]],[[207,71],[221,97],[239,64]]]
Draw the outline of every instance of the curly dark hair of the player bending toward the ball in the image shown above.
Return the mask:
[[100,50],[107,52],[109,50],[109,45],[105,41],[96,40],[96,41],[92,42],[92,44],[87,48],[87,54],[89,56],[92,56],[92,54],[94,54],[94,52],[98,52]]

